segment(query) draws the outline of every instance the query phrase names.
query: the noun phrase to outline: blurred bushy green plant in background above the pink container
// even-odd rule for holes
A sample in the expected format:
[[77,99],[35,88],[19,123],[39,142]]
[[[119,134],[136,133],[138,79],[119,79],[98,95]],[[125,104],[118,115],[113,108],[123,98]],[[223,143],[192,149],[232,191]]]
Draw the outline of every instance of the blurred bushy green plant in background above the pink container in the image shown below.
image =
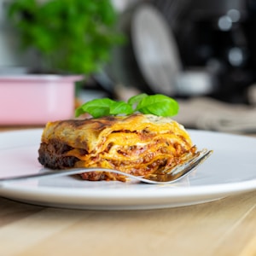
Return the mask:
[[121,40],[111,0],[13,0],[9,19],[40,73],[95,73]]

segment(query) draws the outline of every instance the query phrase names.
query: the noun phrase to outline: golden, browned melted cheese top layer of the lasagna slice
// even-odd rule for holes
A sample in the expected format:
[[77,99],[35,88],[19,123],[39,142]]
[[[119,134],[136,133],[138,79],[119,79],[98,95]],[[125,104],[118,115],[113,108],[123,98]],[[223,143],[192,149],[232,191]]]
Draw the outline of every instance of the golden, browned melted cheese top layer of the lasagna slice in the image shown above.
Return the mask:
[[152,138],[176,139],[182,145],[192,145],[183,125],[171,118],[151,114],[111,116],[99,119],[64,120],[49,122],[42,142],[60,140],[73,148],[84,148],[88,153],[99,152],[109,143],[131,146],[150,143]]

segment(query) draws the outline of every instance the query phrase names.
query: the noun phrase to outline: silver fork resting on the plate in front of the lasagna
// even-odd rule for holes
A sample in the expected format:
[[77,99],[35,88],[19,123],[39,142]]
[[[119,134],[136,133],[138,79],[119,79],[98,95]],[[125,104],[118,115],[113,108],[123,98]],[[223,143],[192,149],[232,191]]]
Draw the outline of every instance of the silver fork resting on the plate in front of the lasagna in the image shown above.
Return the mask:
[[45,171],[38,172],[34,174],[15,176],[15,177],[2,177],[0,178],[0,186],[3,186],[5,183],[11,183],[15,181],[22,181],[32,178],[43,178],[43,177],[59,177],[67,175],[81,174],[84,172],[112,172],[135,179],[142,183],[151,183],[151,184],[166,184],[166,183],[175,183],[180,178],[189,174],[193,171],[195,167],[199,166],[204,160],[206,160],[212,154],[212,150],[203,149],[195,154],[194,157],[189,158],[189,160],[183,162],[183,164],[175,166],[174,168],[169,168],[158,173],[152,173],[148,176],[135,176],[125,172],[120,172],[118,170],[92,167],[92,168],[73,168],[68,170],[58,170],[58,171]]

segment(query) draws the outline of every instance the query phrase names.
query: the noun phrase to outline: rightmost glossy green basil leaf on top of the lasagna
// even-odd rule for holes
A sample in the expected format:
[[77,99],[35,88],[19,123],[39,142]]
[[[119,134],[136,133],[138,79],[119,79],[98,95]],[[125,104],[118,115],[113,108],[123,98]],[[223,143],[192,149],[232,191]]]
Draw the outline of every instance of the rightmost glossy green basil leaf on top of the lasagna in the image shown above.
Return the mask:
[[173,116],[178,113],[178,103],[171,97],[156,94],[144,97],[137,104],[136,110],[158,116]]

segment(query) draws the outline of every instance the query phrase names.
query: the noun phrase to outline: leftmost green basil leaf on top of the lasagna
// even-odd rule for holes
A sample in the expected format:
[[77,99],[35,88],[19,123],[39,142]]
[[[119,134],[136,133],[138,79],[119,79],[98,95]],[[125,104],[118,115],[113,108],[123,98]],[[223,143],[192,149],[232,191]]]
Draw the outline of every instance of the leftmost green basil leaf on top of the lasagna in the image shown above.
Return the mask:
[[113,102],[113,100],[108,98],[95,99],[90,102],[86,102],[76,109],[75,116],[78,117],[83,113],[90,113],[94,118],[107,116],[110,114],[110,106]]

